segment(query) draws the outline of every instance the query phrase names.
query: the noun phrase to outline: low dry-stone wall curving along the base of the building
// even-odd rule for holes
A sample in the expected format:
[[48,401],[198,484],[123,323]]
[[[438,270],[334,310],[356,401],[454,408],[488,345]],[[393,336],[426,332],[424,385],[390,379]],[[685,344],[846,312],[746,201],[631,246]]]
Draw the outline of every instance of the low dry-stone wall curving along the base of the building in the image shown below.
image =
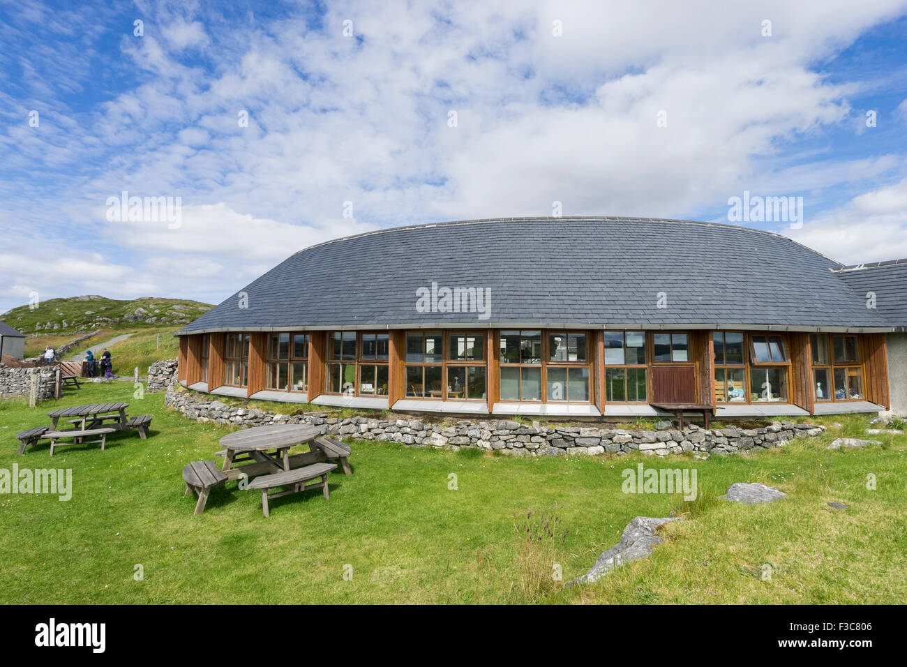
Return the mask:
[[275,415],[254,408],[229,406],[219,400],[205,400],[200,394],[178,391],[175,387],[167,390],[164,403],[179,410],[183,416],[199,422],[248,427],[311,424],[322,427],[323,434],[332,436],[392,441],[410,446],[499,449],[502,454],[512,456],[575,456],[605,452],[627,454],[636,450],[655,456],[691,451],[731,454],[784,445],[795,437],[819,436],[825,428],[785,421],[749,429],[727,427],[707,430],[689,425],[682,431],[678,428],[627,430],[608,427],[551,427],[542,426],[539,422],[527,425],[496,419],[430,424],[418,419]]

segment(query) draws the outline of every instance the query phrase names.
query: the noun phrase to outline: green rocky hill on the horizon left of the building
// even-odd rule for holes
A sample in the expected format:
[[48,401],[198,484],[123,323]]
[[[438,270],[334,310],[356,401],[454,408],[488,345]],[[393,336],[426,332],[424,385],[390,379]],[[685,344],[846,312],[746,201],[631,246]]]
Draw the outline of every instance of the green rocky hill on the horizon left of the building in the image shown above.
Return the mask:
[[0,315],[0,321],[24,334],[93,329],[136,329],[144,325],[189,324],[212,306],[189,299],[106,299],[95,294],[48,299],[32,308],[19,306]]

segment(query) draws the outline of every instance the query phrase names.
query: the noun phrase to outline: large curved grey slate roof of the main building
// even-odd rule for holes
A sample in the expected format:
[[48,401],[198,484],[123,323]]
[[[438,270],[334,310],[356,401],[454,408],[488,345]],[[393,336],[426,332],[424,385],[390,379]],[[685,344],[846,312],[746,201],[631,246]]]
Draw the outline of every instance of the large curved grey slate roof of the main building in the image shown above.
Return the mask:
[[[300,250],[179,334],[369,325],[888,325],[841,264],[775,233],[629,218],[444,222]],[[419,312],[416,290],[488,288],[491,317]],[[658,308],[658,294],[668,308]]]

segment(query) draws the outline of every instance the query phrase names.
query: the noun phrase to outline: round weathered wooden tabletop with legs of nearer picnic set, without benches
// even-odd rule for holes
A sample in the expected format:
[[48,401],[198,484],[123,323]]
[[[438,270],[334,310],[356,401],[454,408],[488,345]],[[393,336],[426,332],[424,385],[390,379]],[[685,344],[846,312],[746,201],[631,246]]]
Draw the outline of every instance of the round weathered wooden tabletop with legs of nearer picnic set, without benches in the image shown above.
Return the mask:
[[237,478],[243,466],[232,468],[234,463],[255,461],[268,464],[275,472],[287,472],[290,447],[310,443],[320,435],[320,428],[303,424],[273,424],[235,431],[220,438],[220,446],[227,450],[220,470],[223,473],[232,470],[229,478]]

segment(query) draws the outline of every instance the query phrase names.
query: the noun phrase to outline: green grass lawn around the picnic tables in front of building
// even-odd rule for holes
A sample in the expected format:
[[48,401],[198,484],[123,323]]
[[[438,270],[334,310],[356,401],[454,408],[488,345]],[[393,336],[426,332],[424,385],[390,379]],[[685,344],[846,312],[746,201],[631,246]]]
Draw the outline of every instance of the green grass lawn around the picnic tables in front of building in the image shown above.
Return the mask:
[[[15,433],[49,424],[55,407],[124,400],[154,416],[151,436],[98,446],[48,446],[15,456]],[[841,418],[857,435],[865,417]],[[73,470],[73,497],[0,495],[3,603],[904,603],[907,602],[907,438],[826,452],[832,432],[756,456],[665,459],[510,458],[354,441],[352,476],[330,476],[331,498],[290,495],[261,514],[260,496],[216,489],[203,515],[184,497],[190,460],[213,458],[227,427],[200,425],[132,397],[132,385],[88,385],[29,409],[0,402],[0,468]],[[817,460],[821,459],[821,461]],[[625,495],[621,471],[642,462],[695,467],[696,502],[649,559],[598,584],[561,589],[619,540],[633,516],[665,516],[678,495]],[[455,474],[456,490],[449,488]],[[876,490],[867,490],[867,475]],[[770,505],[715,499],[733,482],[789,495]],[[850,505],[834,511],[828,501]],[[514,513],[555,514],[563,539],[528,552]],[[547,515],[546,515],[547,516]],[[557,554],[551,556],[551,549]],[[528,556],[526,554],[529,554]],[[541,555],[540,555],[541,554]],[[133,578],[141,564],[144,578]],[[772,577],[764,581],[763,565]],[[345,579],[345,572],[352,578]],[[532,572],[531,572],[532,571]],[[526,584],[541,571],[548,581]],[[527,592],[527,587],[529,588]]]

